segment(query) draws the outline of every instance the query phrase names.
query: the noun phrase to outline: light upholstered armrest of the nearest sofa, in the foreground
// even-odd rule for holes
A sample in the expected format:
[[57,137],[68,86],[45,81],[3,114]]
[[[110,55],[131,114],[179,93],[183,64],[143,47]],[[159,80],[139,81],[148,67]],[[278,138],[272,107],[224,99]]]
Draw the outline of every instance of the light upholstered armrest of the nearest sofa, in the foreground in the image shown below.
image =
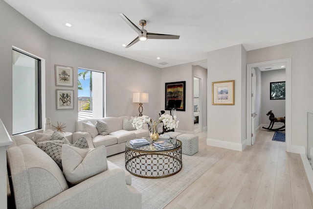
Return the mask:
[[35,209],[141,209],[141,193],[125,183],[125,172],[114,167],[68,188]]

